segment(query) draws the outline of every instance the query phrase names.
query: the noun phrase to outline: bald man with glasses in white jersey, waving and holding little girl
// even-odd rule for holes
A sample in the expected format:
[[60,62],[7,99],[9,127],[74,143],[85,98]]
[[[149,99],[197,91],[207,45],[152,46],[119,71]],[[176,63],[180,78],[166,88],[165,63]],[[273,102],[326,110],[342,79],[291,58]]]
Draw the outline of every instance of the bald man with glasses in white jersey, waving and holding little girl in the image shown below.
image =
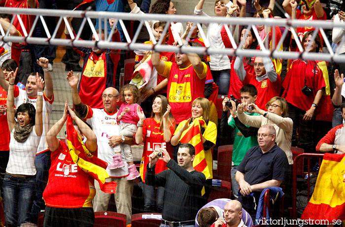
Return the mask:
[[[120,143],[133,143],[132,137],[120,136],[120,125],[116,121],[118,109],[116,102],[119,101],[119,92],[112,87],[106,88],[102,93],[103,109],[91,108],[81,102],[78,94],[78,79],[79,75],[74,75],[70,71],[67,75],[69,86],[72,88],[73,105],[76,112],[79,113],[89,125],[94,129],[97,137],[98,158],[112,163],[114,155],[114,146]],[[123,154],[122,154],[123,155]],[[125,157],[122,157],[125,159]],[[106,168],[110,178],[106,181],[115,181],[117,183],[115,202],[117,212],[127,215],[127,224],[131,223],[132,215],[132,192],[133,182],[128,181],[126,177],[129,175],[128,164],[117,169]],[[106,211],[111,194],[105,194],[101,191],[99,183],[95,181],[96,196],[93,201],[94,211]]]

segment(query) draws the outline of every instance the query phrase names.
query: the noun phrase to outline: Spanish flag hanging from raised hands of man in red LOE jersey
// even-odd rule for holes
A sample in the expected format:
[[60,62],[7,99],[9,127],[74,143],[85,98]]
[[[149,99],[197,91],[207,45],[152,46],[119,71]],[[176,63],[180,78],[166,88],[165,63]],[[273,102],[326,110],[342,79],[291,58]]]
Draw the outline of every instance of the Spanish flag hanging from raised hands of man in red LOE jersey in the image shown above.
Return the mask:
[[76,132],[72,124],[70,115],[67,117],[67,140],[69,154],[74,163],[100,183],[100,188],[104,193],[115,193],[116,182],[105,182],[109,175],[105,171],[108,163],[100,160],[86,148],[82,139]]

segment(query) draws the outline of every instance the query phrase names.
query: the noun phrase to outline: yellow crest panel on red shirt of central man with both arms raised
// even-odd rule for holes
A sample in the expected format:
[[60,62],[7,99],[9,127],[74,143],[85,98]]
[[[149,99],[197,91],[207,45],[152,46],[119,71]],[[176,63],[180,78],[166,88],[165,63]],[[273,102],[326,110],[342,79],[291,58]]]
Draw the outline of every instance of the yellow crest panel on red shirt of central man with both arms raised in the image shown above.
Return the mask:
[[192,92],[190,89],[190,82],[178,84],[172,82],[169,92],[169,101],[171,102],[191,102]]

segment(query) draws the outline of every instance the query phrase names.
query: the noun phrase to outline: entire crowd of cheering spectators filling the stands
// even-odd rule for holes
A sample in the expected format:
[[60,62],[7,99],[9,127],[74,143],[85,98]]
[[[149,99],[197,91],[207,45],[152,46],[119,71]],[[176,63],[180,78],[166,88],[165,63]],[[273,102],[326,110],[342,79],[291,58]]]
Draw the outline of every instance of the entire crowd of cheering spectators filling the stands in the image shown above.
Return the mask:
[[[55,0],[0,0],[0,6],[73,9],[81,2],[59,5]],[[204,3],[200,0],[195,6],[196,16],[207,15]],[[95,0],[92,4],[97,11],[176,14],[170,0],[155,1],[151,10],[149,0]],[[82,4],[78,10],[87,6]],[[228,20],[289,15],[299,20],[344,22],[345,2],[337,5],[336,12],[332,8],[333,18],[328,18],[328,6],[320,0],[215,0],[214,14]],[[11,36],[22,36],[30,31],[35,17],[20,18],[1,14],[1,27]],[[64,33],[70,39],[70,32],[74,36],[79,33],[80,21],[66,19]],[[55,19],[45,17],[45,21],[52,33]],[[106,28],[98,21],[95,26],[101,29],[101,37],[95,37],[88,28],[80,37],[104,40],[104,33],[116,26],[111,40],[123,40],[122,28],[114,18]],[[162,37],[166,26],[169,30]],[[233,47],[227,25],[203,26],[213,47]],[[35,36],[43,37],[44,29],[37,23]],[[165,45],[177,45],[180,37],[186,46],[205,47],[199,28],[192,22],[184,29],[182,23],[149,21],[147,29]],[[239,37],[238,43],[242,41],[242,49],[260,49],[261,39],[269,49],[299,51],[295,40],[299,38],[304,51],[323,52],[325,37],[321,32],[314,35],[314,28],[309,27],[294,28],[298,37],[289,31],[277,46],[284,29],[267,25],[257,25],[257,31],[242,25],[229,27],[232,35]],[[337,46],[344,31],[335,28],[329,35],[341,54],[345,44]],[[153,44],[152,40],[142,41]],[[41,209],[45,210],[45,227],[92,227],[94,212],[107,210],[111,194],[86,174],[85,164],[75,161],[69,152],[68,133],[66,141],[58,139],[68,116],[87,155],[107,163],[109,177],[105,182],[116,182],[116,210],[127,216],[127,224],[131,223],[133,187],[138,184],[144,212],[162,213],[162,227],[250,227],[258,217],[257,202],[263,190],[281,191],[278,187],[285,185],[284,208],[291,205],[291,147],[311,153],[345,153],[344,63],[136,50],[133,71],[141,81],[118,88],[118,65],[125,60],[120,50],[67,48],[62,62],[68,71],[73,106],[66,102],[60,110],[63,116],[53,125],[51,74],[56,48],[2,42],[0,52],[0,192],[6,227],[37,224]],[[211,99],[217,95],[225,96],[219,122]],[[199,131],[193,134],[195,126]],[[186,137],[199,142],[182,143]],[[227,139],[224,143],[217,138]],[[132,155],[133,144],[143,144],[139,169]],[[213,151],[220,144],[234,144],[232,160],[227,160],[231,172],[226,174],[231,176],[235,200],[206,204],[213,178]]]

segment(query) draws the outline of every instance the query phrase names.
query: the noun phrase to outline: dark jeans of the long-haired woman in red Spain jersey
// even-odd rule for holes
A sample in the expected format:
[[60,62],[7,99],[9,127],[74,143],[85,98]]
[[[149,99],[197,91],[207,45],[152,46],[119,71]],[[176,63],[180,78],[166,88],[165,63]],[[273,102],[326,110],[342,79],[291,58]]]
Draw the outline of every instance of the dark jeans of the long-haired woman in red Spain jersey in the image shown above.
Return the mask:
[[[143,182],[140,182],[139,187],[144,195],[144,212],[155,211],[155,188]],[[163,209],[164,187],[157,189],[157,213],[162,213]]]

